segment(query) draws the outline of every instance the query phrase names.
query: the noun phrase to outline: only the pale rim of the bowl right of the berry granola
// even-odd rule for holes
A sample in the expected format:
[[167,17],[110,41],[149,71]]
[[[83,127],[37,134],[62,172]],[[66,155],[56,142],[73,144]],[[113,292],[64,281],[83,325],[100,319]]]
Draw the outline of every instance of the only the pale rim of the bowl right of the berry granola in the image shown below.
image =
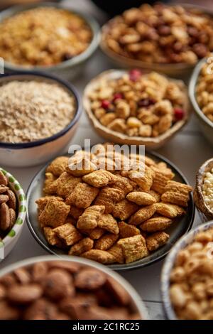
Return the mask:
[[190,97],[190,101],[192,103],[192,106],[195,109],[195,112],[197,113],[197,116],[200,117],[202,119],[202,121],[204,121],[204,123],[208,124],[213,129],[213,122],[211,122],[210,119],[208,119],[208,117],[206,117],[204,115],[204,113],[202,112],[202,110],[199,107],[199,104],[197,103],[197,99],[196,99],[196,96],[195,96],[197,80],[198,80],[198,77],[200,75],[202,65],[204,63],[207,63],[207,59],[208,58],[203,58],[202,60],[200,60],[200,62],[197,63],[197,65],[195,66],[195,69],[192,72],[192,76],[190,77],[190,83],[189,83],[189,97]]

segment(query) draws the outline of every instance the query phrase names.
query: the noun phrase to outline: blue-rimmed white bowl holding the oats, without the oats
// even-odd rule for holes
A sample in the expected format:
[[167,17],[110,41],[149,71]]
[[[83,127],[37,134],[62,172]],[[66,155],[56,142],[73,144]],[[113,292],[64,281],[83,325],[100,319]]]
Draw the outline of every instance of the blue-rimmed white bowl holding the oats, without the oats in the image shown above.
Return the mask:
[[[41,80],[43,82],[53,82],[60,85],[60,87],[64,88],[75,99],[75,116],[62,131],[45,139],[18,144],[0,142],[0,165],[11,167],[35,166],[53,159],[60,153],[67,153],[67,149],[70,146],[70,141],[75,134],[82,113],[80,97],[75,88],[66,80],[40,72],[1,75],[0,85],[13,80]],[[57,122],[57,119],[55,119],[55,122]]]

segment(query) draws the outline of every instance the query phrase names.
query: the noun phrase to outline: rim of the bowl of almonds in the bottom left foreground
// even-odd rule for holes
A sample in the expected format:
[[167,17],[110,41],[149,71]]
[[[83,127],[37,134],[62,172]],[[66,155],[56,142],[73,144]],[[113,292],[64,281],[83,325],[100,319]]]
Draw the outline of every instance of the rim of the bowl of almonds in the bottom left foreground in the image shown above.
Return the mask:
[[31,264],[35,264],[38,262],[51,262],[51,261],[60,261],[60,260],[67,261],[67,262],[80,263],[80,264],[84,264],[85,266],[91,266],[109,275],[112,279],[118,282],[129,293],[129,296],[131,297],[132,302],[135,304],[138,313],[140,313],[142,320],[149,319],[147,308],[145,304],[143,303],[141,296],[138,294],[136,289],[129,283],[129,281],[124,279],[123,276],[116,273],[116,271],[113,271],[107,268],[103,264],[99,264],[97,262],[94,262],[89,259],[84,259],[82,257],[75,257],[73,255],[72,256],[63,255],[60,257],[55,256],[55,255],[41,255],[39,257],[30,257],[28,259],[23,259],[13,264],[9,264],[9,266],[6,266],[5,268],[0,269],[0,277],[4,276],[5,274],[9,274],[11,271],[18,269],[20,267],[23,267],[23,266],[29,266]]

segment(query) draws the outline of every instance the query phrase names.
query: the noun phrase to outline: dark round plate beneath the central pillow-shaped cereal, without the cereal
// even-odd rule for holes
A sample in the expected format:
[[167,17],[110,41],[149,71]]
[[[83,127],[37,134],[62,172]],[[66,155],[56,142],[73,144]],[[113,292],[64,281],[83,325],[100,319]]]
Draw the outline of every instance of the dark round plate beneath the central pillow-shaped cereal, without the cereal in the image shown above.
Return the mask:
[[[155,161],[165,161],[165,163],[168,164],[168,166],[173,170],[175,173],[175,181],[187,183],[187,180],[185,176],[182,175],[182,173],[178,170],[178,168],[173,165],[170,161],[168,161],[163,156],[160,156],[157,153],[153,152],[146,152],[146,156],[153,158]],[[48,165],[44,166],[33,178],[33,181],[31,182],[31,185],[28,188],[27,191],[27,206],[28,206],[28,213],[27,213],[27,223],[28,228],[31,231],[33,237],[35,240],[40,244],[41,247],[43,247],[47,252],[51,254],[56,255],[62,255],[65,254],[65,252],[62,249],[59,249],[58,247],[53,247],[48,244],[47,240],[45,239],[45,236],[43,235],[42,230],[40,229],[38,225],[38,211],[35,205],[35,200],[38,200],[41,196],[43,196],[43,183],[45,181],[45,169]],[[143,259],[140,259],[136,262],[132,262],[130,264],[110,264],[108,267],[117,271],[126,271],[126,270],[132,270],[132,269],[138,269],[143,266],[148,266],[149,264],[153,264],[154,262],[160,261],[160,259],[163,259],[168,252],[170,252],[170,249],[173,247],[173,244],[177,242],[182,235],[184,235],[188,230],[191,229],[192,223],[194,220],[195,215],[195,207],[192,200],[192,194],[190,194],[190,202],[187,208],[186,215],[183,217],[180,217],[180,219],[173,222],[173,225],[169,227],[167,230],[167,233],[170,235],[170,239],[167,244],[165,244],[163,247],[160,247],[156,252],[153,252],[148,257],[145,257]]]

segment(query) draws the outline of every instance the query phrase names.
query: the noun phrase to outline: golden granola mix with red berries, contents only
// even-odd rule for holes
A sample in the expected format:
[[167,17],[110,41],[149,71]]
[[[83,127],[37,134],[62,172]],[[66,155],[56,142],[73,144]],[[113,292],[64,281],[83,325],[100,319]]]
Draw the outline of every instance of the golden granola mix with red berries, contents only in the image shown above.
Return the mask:
[[157,72],[103,73],[87,97],[102,126],[130,137],[160,136],[187,117],[185,85]]

